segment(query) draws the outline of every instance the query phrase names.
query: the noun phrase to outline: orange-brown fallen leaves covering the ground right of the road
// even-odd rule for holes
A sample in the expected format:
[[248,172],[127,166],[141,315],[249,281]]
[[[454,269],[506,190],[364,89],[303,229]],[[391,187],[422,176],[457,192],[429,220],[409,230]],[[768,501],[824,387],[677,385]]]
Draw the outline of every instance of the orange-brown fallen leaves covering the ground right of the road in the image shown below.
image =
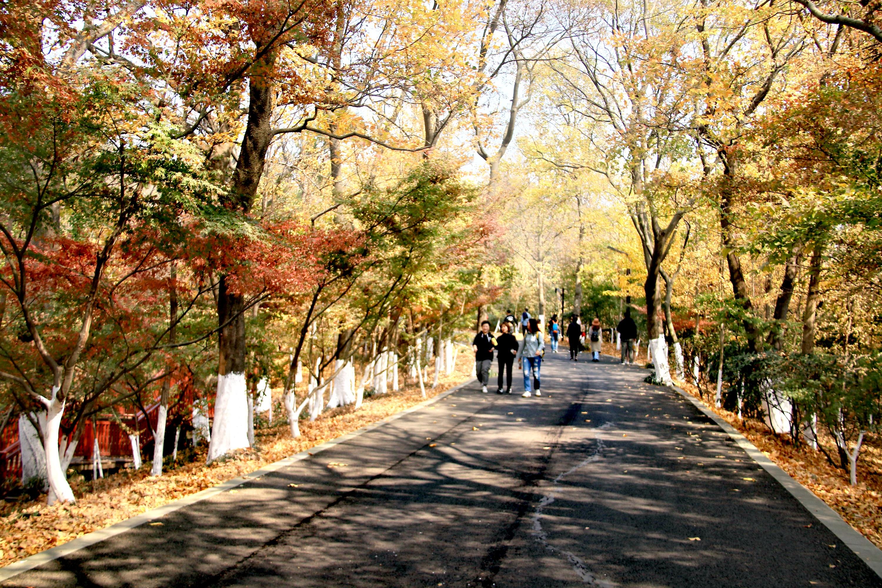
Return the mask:
[[[714,413],[747,437],[766,457],[809,488],[876,547],[882,548],[882,439],[867,435],[857,462],[857,486],[848,482],[848,473],[830,465],[819,450],[804,445],[795,447],[785,435],[775,435],[766,425],[753,419],[739,419],[736,413],[716,408],[700,397],[691,383],[677,382],[699,398]],[[818,442],[830,455],[836,455],[832,440],[818,431]]]

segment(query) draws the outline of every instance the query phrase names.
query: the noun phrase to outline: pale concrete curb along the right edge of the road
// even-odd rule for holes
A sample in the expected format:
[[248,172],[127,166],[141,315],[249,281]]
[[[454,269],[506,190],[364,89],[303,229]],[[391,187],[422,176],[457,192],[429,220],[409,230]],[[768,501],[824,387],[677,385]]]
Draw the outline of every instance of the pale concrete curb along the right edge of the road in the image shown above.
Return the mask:
[[751,459],[761,465],[762,468],[770,473],[775,480],[778,480],[778,483],[793,495],[793,497],[805,507],[805,510],[811,512],[822,525],[825,525],[827,529],[833,532],[833,534],[842,541],[842,543],[855,552],[855,555],[857,555],[862,562],[866,563],[867,567],[876,572],[878,577],[882,578],[882,550],[879,550],[879,548],[873,545],[870,540],[864,537],[860,532],[857,532],[851,525],[848,525],[848,523],[839,516],[839,513],[827,506],[826,502],[814,495],[810,489],[805,488],[802,484],[791,478],[789,473],[782,470],[779,465],[776,465],[771,459],[766,458],[766,454],[758,450],[756,446],[748,441],[744,435],[739,433],[736,428],[732,427],[717,413],[714,413],[714,411],[705,406],[698,398],[695,398],[682,388],[678,388],[677,386],[673,386],[673,388],[695,405],[699,411],[705,413],[706,416],[726,431],[726,433],[729,434],[729,437],[738,443],[738,446],[746,451],[747,454],[751,456]]

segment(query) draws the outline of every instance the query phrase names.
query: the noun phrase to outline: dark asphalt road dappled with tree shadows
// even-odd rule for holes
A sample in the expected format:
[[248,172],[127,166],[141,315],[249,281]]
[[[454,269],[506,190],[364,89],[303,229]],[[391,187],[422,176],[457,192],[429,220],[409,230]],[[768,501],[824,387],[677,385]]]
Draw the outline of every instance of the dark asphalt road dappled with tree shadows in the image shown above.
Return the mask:
[[882,585],[646,370],[542,372],[542,398],[470,385],[5,585]]

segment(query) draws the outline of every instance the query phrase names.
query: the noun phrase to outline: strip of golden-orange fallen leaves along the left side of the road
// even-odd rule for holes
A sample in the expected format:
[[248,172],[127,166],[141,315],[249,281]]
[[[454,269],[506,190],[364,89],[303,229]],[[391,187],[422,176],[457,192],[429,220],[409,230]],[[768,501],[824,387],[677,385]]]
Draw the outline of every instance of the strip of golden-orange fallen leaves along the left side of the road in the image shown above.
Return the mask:
[[[450,376],[439,375],[437,388],[426,387],[429,397],[472,376],[471,361],[458,363],[459,369]],[[280,391],[274,391],[273,397],[273,402],[278,402]],[[160,478],[149,475],[148,460],[138,471],[126,470],[94,482],[75,482],[72,486],[77,502],[72,505],[46,506],[45,495],[35,502],[4,505],[0,510],[0,566],[254,472],[279,459],[382,421],[423,400],[418,384],[407,386],[398,392],[366,398],[357,411],[350,405],[327,411],[313,422],[301,421],[301,436],[297,439],[291,438],[287,424],[260,429],[256,432],[256,448],[236,452],[211,465],[205,463],[203,448],[194,462],[177,465]]]

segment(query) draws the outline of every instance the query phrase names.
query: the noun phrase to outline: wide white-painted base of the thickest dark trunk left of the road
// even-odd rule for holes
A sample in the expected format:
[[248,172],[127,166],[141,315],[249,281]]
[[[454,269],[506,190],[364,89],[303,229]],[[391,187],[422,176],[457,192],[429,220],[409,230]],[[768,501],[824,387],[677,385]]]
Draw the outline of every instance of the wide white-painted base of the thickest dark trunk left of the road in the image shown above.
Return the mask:
[[214,424],[208,443],[207,463],[230,451],[248,449],[248,387],[244,373],[218,376],[214,398]]

